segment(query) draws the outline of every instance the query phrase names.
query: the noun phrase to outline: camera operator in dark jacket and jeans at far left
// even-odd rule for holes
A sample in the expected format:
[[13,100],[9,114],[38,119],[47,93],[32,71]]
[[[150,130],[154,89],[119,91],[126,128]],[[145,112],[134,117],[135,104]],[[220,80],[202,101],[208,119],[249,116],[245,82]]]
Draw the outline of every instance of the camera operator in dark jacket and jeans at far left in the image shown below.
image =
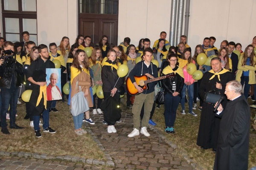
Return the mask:
[[1,132],[10,134],[6,124],[6,113],[10,105],[10,128],[23,129],[15,124],[15,115],[17,111],[18,87],[21,83],[20,75],[23,74],[23,66],[16,61],[14,57],[14,44],[6,41],[3,44],[3,54],[0,59],[0,94],[1,94]]

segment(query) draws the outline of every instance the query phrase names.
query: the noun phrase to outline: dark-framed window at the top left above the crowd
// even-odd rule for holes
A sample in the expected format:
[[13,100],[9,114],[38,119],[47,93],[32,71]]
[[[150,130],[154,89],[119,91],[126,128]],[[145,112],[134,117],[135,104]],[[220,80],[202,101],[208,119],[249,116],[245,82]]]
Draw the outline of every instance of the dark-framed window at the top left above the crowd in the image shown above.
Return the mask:
[[21,33],[28,31],[29,40],[37,45],[36,0],[2,0],[3,37],[23,42]]

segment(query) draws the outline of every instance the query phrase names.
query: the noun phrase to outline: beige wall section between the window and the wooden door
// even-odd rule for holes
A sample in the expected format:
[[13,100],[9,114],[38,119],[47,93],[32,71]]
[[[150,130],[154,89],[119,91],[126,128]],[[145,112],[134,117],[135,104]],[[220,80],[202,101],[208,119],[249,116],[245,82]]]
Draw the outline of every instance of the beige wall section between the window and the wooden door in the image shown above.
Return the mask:
[[37,0],[38,44],[60,44],[62,37],[72,45],[78,34],[77,0]]

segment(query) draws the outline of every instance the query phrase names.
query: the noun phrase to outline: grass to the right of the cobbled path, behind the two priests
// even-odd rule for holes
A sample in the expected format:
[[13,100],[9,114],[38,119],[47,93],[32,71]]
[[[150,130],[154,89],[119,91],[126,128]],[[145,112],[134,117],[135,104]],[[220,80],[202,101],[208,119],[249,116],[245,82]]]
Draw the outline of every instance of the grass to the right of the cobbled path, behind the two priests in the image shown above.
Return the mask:
[[[248,99],[250,103],[251,100]],[[199,102],[198,102],[199,106]],[[164,105],[160,109],[155,109],[153,120],[157,122],[157,129],[160,130],[166,139],[177,144],[178,148],[186,153],[191,159],[195,160],[201,167],[207,170],[212,170],[215,160],[215,153],[212,150],[201,150],[197,142],[198,128],[200,124],[201,111],[194,110],[198,115],[194,117],[188,114],[188,104],[185,104],[186,115],[181,114],[181,105],[177,109],[177,116],[175,120],[175,133],[165,133],[164,122]],[[253,117],[255,116],[256,109],[251,108],[251,125],[253,123]],[[251,126],[250,129],[250,149],[249,149],[249,167],[254,167],[256,164],[256,132]],[[177,153],[180,154],[180,153]]]

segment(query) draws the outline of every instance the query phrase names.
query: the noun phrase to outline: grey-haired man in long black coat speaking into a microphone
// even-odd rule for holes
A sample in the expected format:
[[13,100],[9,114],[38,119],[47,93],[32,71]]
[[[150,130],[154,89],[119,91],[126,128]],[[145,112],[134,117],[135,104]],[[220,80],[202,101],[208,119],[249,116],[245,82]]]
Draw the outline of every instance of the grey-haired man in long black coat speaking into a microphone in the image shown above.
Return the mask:
[[228,82],[225,94],[230,101],[224,109],[221,104],[217,109],[216,116],[222,118],[214,170],[248,169],[250,107],[241,91],[240,82]]

